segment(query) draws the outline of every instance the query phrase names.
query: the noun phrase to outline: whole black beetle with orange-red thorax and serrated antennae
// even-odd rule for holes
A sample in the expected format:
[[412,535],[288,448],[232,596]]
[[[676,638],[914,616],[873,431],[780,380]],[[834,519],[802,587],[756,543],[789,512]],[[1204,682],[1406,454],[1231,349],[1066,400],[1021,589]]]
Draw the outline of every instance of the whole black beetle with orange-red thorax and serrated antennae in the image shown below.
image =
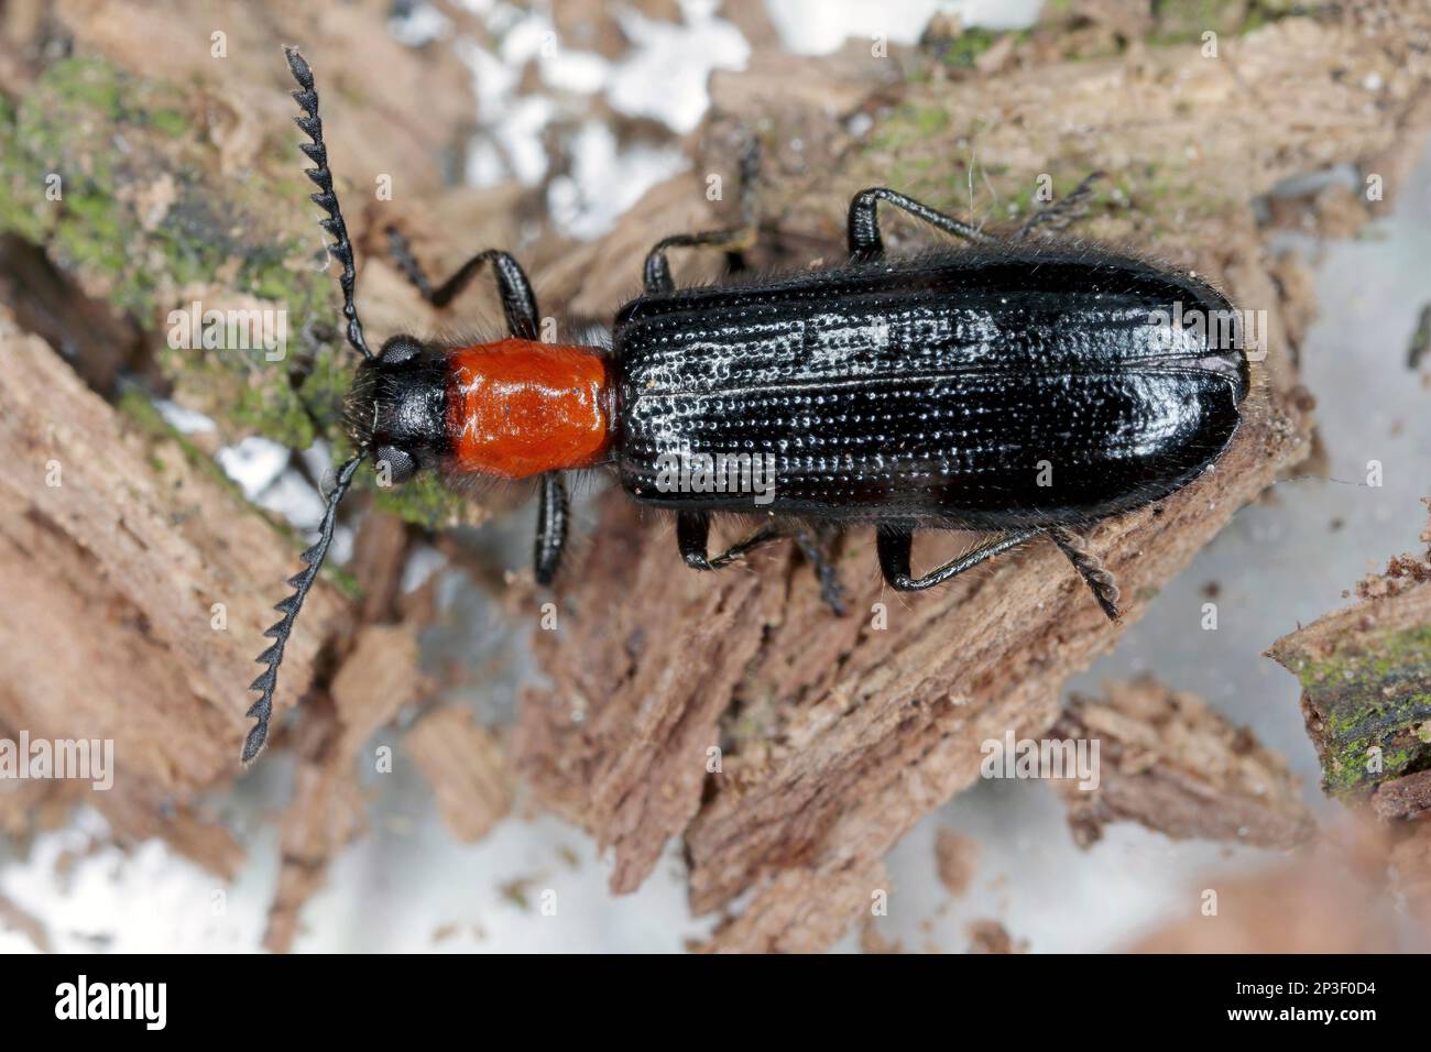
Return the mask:
[[[389,229],[399,268],[436,306],[489,268],[508,336],[446,346],[396,335],[375,355],[353,303],[353,249],[313,74],[296,49],[285,53],[299,86],[296,122],[312,140],[302,143],[313,162],[312,200],[328,216],[328,250],[342,266],[348,342],[362,358],[348,398],[358,452],[338,468],[318,541],[276,607],[282,618],[265,633],[273,644],[258,658],[266,668],[252,686],[260,698],[248,713],[255,724],[245,761],[266,739],[283,647],[363,459],[392,482],[432,469],[537,479],[541,584],[555,577],[567,535],[562,472],[608,467],[634,501],[674,511],[688,567],[717,570],[791,538],[837,613],[841,594],[821,534],[866,524],[876,527],[884,580],[899,591],[934,587],[1047,535],[1116,620],[1116,583],[1076,528],[1186,485],[1239,425],[1249,388],[1239,329],[1186,322],[1235,321],[1218,291],[1133,256],[1026,240],[1039,226],[1065,228],[1099,173],[1007,240],[894,190],[861,190],[849,209],[849,259],[831,269],[677,289],[670,249],[736,255],[753,226],[665,238],[645,259],[643,293],[617,312],[610,348],[539,342],[537,299],[508,253],[479,252],[434,288]],[[886,258],[881,203],[970,245]],[[1179,321],[1156,323],[1159,316]],[[671,485],[673,457],[694,461],[698,471],[677,478],[701,485]],[[753,502],[740,485],[713,485],[705,468],[716,457],[741,469],[770,458],[768,502]],[[761,521],[711,554],[711,515],[721,512]],[[910,545],[920,528],[990,537],[916,575]]]

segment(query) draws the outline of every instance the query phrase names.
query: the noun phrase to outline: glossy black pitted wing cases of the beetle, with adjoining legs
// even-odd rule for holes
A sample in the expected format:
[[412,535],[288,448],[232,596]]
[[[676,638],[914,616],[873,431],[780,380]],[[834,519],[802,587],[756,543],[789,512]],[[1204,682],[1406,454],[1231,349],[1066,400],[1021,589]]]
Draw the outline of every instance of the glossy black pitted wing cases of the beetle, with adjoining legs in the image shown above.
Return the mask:
[[[874,524],[896,590],[930,588],[1047,534],[1116,618],[1112,574],[1075,527],[1205,471],[1241,422],[1249,366],[1236,312],[1206,282],[1025,240],[1065,228],[1099,175],[1010,240],[874,187],[850,203],[850,259],[834,269],[675,289],[664,260],[648,260],[645,295],[612,333],[622,488],[675,510],[685,562],[718,568],[791,531],[767,525],[708,557],[711,512],[750,512],[748,494],[663,491],[663,469],[677,451],[768,454],[776,482],[760,511]],[[890,259],[881,200],[973,246]],[[919,528],[995,535],[916,577]]]

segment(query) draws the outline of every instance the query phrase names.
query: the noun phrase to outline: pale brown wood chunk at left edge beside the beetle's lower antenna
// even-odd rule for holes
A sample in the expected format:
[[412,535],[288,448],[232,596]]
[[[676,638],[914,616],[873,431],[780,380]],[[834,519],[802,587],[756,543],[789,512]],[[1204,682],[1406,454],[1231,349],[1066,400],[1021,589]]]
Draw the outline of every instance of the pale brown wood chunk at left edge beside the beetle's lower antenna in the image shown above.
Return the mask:
[[[0,726],[112,739],[114,787],[82,799],[122,834],[169,836],[232,873],[238,847],[187,802],[236,773],[266,585],[292,574],[295,547],[212,464],[143,434],[6,318],[0,359]],[[283,706],[341,617],[315,590]]]

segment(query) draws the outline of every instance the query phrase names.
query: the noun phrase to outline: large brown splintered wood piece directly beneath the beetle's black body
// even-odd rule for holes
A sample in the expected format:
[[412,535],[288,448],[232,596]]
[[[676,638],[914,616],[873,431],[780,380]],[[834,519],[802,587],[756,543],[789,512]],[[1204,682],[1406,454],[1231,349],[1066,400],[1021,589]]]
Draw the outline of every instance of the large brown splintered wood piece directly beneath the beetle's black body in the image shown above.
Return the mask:
[[[1072,183],[1112,169],[1129,206],[1099,210],[1088,230],[1166,255],[1266,311],[1269,354],[1216,471],[1090,534],[1123,587],[1120,625],[1103,621],[1050,545],[899,597],[877,584],[871,538],[859,531],[840,561],[856,614],[833,620],[791,557],[690,574],[665,521],[608,501],[567,578],[561,631],[538,633],[554,637],[538,638],[554,688],[524,707],[517,750],[539,799],[611,850],[615,890],[635,887],[661,844],[681,836],[695,912],[753,892],[717,948],[827,946],[869,902],[884,852],[975,780],[979,743],[1043,734],[1065,678],[1108,650],[1242,504],[1309,455],[1285,325],[1307,305],[1282,299],[1251,199],[1334,162],[1404,169],[1427,123],[1428,63],[1402,53],[1400,31],[1289,19],[1225,40],[1216,62],[1158,49],[1025,64],[1016,52],[996,79],[903,90],[867,142],[843,125],[831,133],[823,106],[801,106],[814,92],[753,93],[773,110],[766,119],[727,109],[723,87],[740,77],[716,79],[707,149],[728,149],[731,127],[760,120],[773,140],[757,263],[839,258],[843,203],[860,186],[894,183],[964,210],[963,165],[975,155],[1007,187],[1039,172]],[[876,69],[867,99],[889,90],[887,66]],[[1397,90],[1372,104],[1348,69],[1377,70]],[[806,83],[806,72],[821,76],[817,66],[787,76]],[[1136,126],[1126,113],[1139,115]],[[809,149],[814,142],[824,149]],[[700,170],[727,169],[711,160]],[[977,169],[973,179],[987,208]],[[930,236],[897,219],[892,229],[896,249]],[[618,230],[607,240],[627,239]],[[622,265],[620,252],[610,259]],[[930,538],[916,562],[962,542]]]

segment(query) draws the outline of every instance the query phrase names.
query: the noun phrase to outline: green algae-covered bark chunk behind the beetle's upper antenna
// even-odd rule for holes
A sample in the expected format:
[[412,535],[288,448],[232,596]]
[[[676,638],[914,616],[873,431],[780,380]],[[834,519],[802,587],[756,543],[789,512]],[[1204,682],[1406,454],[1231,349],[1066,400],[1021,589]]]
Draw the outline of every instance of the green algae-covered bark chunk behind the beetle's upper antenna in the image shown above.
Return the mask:
[[[252,167],[222,173],[195,97],[96,57],[56,62],[21,99],[0,97],[0,232],[40,245],[152,333],[176,401],[226,437],[341,448],[356,361],[342,344],[299,136],[273,136]],[[282,351],[170,338],[193,329],[182,315],[196,302],[273,319]],[[361,485],[375,488],[368,478]],[[429,528],[478,518],[436,485],[379,491],[379,500]]]

